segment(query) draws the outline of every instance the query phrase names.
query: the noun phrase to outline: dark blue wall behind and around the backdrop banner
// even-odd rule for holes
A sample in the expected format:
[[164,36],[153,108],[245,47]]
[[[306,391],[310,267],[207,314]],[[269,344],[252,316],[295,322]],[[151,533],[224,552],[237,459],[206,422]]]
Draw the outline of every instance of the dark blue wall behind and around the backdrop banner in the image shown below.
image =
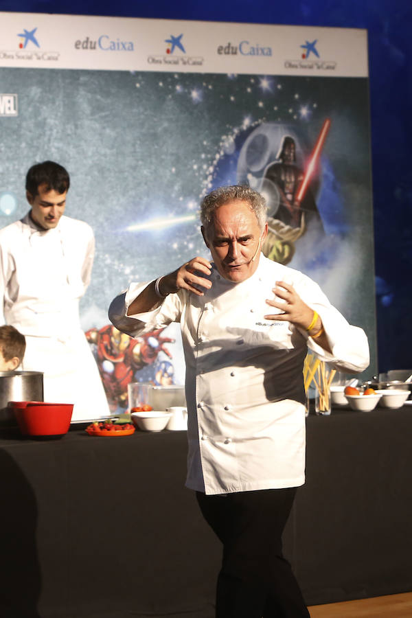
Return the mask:
[[366,28],[369,32],[378,365],[380,371],[412,368],[410,0],[294,3],[157,0],[150,5],[125,0],[117,3],[0,0],[0,10]]

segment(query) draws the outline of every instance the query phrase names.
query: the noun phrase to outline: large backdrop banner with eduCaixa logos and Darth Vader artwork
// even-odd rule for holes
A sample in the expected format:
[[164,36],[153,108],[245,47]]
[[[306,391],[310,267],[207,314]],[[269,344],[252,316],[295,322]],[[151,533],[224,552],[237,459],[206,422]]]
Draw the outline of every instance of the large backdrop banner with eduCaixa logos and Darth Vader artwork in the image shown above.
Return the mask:
[[97,243],[82,326],[113,413],[130,381],[184,382],[178,325],[130,339],[107,309],[209,257],[198,206],[220,185],[266,196],[265,255],[365,329],[376,372],[365,30],[2,13],[0,32],[0,227],[29,209],[30,165],[69,170],[65,214]]

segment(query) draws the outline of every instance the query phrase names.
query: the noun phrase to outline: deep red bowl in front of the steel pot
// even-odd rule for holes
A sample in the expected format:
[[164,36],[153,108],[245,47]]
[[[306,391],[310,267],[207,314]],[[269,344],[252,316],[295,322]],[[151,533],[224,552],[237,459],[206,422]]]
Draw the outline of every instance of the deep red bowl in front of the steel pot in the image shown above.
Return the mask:
[[43,401],[10,402],[23,435],[65,435],[69,431],[73,404]]

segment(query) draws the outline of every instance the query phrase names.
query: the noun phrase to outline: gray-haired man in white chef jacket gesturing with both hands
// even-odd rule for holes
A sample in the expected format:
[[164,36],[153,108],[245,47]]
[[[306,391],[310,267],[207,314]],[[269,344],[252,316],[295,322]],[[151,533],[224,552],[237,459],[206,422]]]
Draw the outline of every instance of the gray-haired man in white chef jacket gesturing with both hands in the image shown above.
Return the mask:
[[213,262],[130,284],[109,310],[131,336],[181,323],[187,481],[223,543],[216,618],[308,617],[281,536],[304,483],[308,347],[345,371],[369,364],[351,326],[305,275],[260,253],[264,198],[221,187],[201,206]]

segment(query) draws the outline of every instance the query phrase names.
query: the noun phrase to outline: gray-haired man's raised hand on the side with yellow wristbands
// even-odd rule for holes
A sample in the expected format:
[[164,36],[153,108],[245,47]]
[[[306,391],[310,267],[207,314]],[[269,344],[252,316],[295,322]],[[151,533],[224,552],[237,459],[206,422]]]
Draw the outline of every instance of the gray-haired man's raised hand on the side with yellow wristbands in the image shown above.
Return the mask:
[[[282,313],[268,314],[264,318],[267,320],[288,321],[295,326],[299,326],[306,330],[312,323],[313,309],[308,307],[295,291],[295,288],[284,281],[277,281],[276,287],[273,288],[274,299],[266,299],[266,304],[276,309],[280,309]],[[319,324],[320,322],[320,324]],[[312,330],[319,330],[321,321],[318,317],[317,324],[314,324]]]

